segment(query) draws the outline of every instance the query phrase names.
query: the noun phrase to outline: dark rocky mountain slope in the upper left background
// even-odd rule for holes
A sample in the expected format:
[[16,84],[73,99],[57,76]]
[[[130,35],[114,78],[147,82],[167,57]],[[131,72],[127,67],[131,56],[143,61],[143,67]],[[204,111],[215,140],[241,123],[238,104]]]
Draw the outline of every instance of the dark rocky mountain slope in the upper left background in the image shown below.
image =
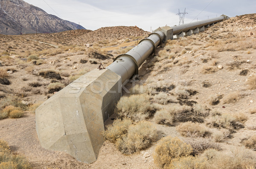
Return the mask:
[[[78,24],[47,14],[23,0],[0,0],[0,34],[54,33],[78,28]],[[85,28],[80,25],[80,29]]]

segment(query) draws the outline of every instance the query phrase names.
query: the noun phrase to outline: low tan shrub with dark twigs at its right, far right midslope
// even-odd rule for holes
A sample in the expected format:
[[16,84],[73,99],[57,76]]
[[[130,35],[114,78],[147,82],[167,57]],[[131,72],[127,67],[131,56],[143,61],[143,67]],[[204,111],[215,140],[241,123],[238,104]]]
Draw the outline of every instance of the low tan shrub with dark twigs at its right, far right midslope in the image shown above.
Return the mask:
[[229,130],[244,128],[244,125],[236,117],[228,113],[212,116],[207,124],[210,127],[222,127]]

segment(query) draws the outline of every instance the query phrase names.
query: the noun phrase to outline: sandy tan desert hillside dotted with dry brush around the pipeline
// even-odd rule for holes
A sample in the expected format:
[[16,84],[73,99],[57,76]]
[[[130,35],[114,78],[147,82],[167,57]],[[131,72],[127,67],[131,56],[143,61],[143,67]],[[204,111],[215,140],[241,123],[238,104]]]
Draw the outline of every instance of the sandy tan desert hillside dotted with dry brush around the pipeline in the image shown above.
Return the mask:
[[100,63],[111,64],[149,32],[119,26],[0,35],[0,140],[35,169],[255,169],[255,21],[256,14],[232,17],[157,48],[139,78],[125,85],[130,92],[123,91],[105,122],[106,141],[92,164],[42,148],[35,108]]

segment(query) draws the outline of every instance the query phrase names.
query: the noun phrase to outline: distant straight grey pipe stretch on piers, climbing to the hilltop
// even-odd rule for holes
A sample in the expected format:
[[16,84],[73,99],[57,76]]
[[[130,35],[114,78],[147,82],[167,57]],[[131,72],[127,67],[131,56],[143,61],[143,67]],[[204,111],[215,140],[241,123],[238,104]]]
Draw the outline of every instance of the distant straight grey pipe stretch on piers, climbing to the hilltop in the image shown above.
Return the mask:
[[209,20],[201,20],[198,22],[193,22],[193,23],[188,23],[188,24],[183,24],[183,25],[178,25],[178,26],[172,26],[173,34],[177,35],[177,34],[180,34],[181,32],[189,31],[190,29],[194,30],[196,28],[201,28],[202,26],[216,23],[216,22],[219,22],[224,19],[225,19],[224,16],[220,16],[220,17],[209,19]]

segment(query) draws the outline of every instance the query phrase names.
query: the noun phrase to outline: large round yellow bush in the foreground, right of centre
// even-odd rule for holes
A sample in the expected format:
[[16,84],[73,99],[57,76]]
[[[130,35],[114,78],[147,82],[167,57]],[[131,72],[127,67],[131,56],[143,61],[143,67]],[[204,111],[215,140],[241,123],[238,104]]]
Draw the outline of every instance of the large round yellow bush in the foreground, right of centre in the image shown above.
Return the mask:
[[185,157],[192,153],[189,144],[180,141],[178,138],[167,136],[158,141],[154,149],[154,163],[160,168],[168,168],[172,160],[178,157]]

